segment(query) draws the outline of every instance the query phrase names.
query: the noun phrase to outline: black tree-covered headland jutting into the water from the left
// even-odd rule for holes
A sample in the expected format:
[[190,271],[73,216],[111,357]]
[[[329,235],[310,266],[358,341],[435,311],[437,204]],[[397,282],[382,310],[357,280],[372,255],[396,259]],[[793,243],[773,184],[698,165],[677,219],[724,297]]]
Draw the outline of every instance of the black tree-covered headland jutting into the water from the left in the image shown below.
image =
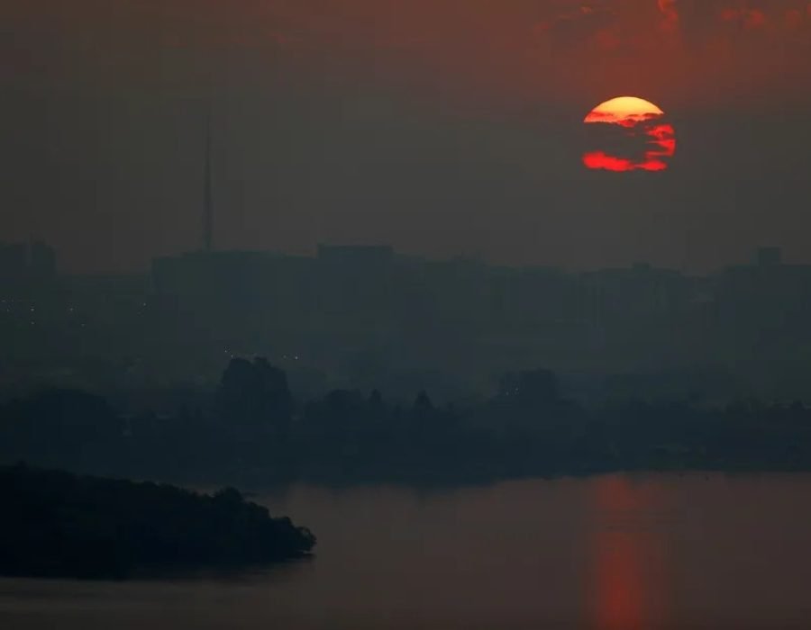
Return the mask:
[[0,467],[0,574],[125,579],[244,568],[299,558],[305,527],[225,489],[198,494],[150,482]]

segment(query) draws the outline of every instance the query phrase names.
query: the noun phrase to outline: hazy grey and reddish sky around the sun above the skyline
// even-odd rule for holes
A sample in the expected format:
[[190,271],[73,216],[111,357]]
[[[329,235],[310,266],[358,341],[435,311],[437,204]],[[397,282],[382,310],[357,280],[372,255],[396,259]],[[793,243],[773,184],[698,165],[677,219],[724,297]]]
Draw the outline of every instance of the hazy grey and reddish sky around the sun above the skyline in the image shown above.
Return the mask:
[[[5,0],[0,239],[76,270],[198,247],[811,262],[807,0]],[[583,116],[657,103],[669,171],[580,164]]]

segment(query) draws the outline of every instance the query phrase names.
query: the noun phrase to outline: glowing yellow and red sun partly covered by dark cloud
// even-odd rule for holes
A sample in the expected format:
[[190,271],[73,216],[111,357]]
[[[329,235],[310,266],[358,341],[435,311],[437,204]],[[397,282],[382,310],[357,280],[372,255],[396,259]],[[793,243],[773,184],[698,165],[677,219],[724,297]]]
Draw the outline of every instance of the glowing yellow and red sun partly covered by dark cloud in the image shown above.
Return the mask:
[[676,131],[659,107],[635,96],[600,103],[583,121],[589,148],[583,164],[596,170],[664,171],[676,153]]

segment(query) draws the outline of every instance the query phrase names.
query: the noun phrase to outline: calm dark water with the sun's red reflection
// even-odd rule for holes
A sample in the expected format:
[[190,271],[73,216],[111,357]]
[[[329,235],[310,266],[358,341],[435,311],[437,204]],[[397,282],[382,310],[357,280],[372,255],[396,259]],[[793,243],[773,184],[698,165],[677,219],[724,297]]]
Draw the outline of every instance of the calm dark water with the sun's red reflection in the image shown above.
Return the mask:
[[811,476],[262,497],[319,536],[261,574],[0,581],[9,630],[811,627]]

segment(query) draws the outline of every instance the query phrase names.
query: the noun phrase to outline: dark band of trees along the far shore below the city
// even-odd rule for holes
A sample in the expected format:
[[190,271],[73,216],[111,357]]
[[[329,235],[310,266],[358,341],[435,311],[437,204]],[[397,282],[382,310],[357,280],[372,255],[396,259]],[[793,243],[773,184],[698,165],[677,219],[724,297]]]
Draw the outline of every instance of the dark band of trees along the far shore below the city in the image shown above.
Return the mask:
[[616,471],[811,471],[801,401],[624,398],[587,406],[548,370],[436,404],[378,391],[296,398],[284,371],[233,359],[214,392],[163,415],[46,390],[0,406],[0,461],[184,484],[489,482]]

